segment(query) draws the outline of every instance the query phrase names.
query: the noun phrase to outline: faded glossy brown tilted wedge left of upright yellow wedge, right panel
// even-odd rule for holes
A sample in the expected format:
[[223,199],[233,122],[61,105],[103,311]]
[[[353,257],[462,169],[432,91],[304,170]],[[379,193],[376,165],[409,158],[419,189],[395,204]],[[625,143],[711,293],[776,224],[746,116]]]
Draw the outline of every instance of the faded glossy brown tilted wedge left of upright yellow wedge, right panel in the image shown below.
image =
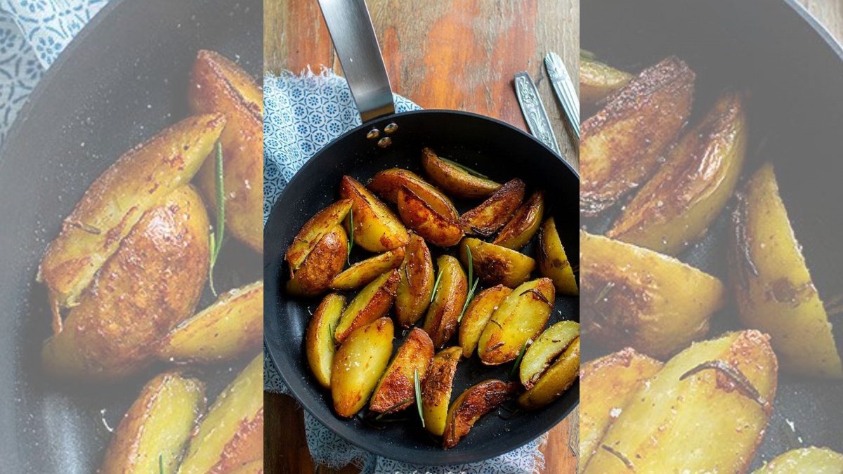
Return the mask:
[[699,239],[732,197],[746,153],[742,94],[728,92],[670,150],[607,236],[675,255]]

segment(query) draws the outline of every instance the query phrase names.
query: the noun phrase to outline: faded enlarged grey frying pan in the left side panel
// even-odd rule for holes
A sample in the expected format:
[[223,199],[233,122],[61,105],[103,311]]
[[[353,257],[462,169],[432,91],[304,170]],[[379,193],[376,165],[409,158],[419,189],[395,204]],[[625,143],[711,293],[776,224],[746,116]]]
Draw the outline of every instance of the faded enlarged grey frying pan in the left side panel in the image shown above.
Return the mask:
[[[111,437],[106,424],[115,427],[162,369],[119,385],[44,380],[40,346],[50,311],[36,268],[91,182],[126,149],[188,115],[197,50],[239,58],[260,77],[261,24],[260,0],[113,0],[62,52],[21,111],[0,154],[0,471],[96,471]],[[261,257],[233,240],[219,258],[217,288],[260,278]],[[210,301],[205,294],[200,304]],[[208,396],[246,362],[202,369]]]

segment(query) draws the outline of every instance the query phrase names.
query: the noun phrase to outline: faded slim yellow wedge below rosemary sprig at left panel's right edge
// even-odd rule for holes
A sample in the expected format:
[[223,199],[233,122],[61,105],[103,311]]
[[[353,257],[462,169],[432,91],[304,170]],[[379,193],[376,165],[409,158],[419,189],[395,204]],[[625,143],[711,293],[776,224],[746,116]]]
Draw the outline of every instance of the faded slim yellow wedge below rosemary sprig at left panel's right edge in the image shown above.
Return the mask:
[[158,358],[177,363],[232,360],[263,347],[263,281],[220,295],[185,320],[158,347]]

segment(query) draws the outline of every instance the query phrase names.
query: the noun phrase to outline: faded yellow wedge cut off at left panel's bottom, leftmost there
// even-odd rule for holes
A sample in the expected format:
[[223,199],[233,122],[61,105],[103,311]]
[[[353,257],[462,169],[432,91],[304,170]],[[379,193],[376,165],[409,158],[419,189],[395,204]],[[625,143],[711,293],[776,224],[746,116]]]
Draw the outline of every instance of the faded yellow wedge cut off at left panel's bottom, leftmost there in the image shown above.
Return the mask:
[[[178,372],[149,380],[117,426],[99,472],[172,474],[196,418],[204,411],[205,385],[201,381],[184,378]],[[164,470],[160,470],[162,466]]]

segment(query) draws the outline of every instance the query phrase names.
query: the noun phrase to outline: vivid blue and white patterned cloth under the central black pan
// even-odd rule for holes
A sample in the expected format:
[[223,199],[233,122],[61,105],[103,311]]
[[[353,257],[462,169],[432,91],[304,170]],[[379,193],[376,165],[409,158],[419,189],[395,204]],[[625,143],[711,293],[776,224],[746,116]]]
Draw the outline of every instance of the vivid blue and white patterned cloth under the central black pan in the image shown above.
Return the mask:
[[[395,95],[398,112],[420,107]],[[360,125],[357,106],[345,79],[330,71],[295,76],[264,76],[264,222],[284,186],[320,148],[341,133]],[[287,393],[281,376],[264,352],[264,389]],[[336,436],[317,419],[304,413],[308,448],[317,464],[340,469],[354,464],[371,473],[511,473],[540,471],[545,458],[539,447],[545,436],[518,450],[486,462],[464,466],[411,466],[360,450]]]

